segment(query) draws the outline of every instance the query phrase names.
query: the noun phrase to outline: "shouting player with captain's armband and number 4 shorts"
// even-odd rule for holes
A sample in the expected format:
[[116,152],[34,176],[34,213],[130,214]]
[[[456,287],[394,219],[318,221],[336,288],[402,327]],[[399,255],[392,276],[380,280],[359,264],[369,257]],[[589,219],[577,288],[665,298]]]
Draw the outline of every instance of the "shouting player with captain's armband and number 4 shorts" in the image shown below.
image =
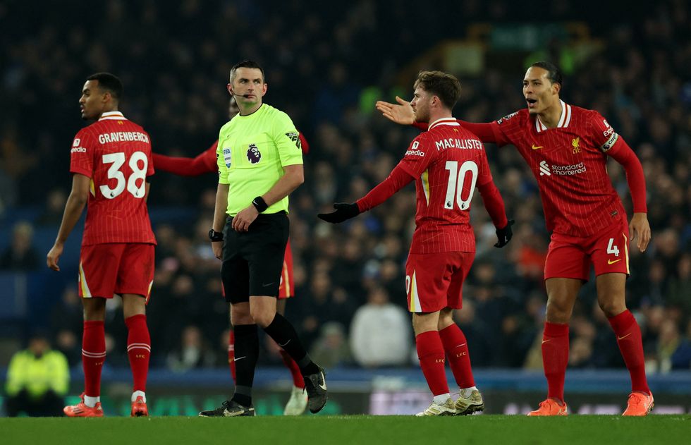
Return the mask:
[[[625,303],[628,245],[637,240],[637,248],[644,252],[650,241],[643,168],[597,111],[559,98],[562,85],[561,72],[554,64],[533,63],[523,79],[527,109],[491,123],[459,121],[483,142],[515,145],[537,179],[546,225],[552,232],[544,270],[547,310],[542,340],[548,394],[529,415],[567,414],[563,387],[568,322],[591,265],[599,306],[616,334],[631,377],[623,415],[647,415],[653,396],[645,375],[641,333]],[[396,100],[399,105],[377,102],[377,109],[391,121],[413,123],[410,104]],[[607,174],[607,156],[626,171],[633,201],[630,224]]]

